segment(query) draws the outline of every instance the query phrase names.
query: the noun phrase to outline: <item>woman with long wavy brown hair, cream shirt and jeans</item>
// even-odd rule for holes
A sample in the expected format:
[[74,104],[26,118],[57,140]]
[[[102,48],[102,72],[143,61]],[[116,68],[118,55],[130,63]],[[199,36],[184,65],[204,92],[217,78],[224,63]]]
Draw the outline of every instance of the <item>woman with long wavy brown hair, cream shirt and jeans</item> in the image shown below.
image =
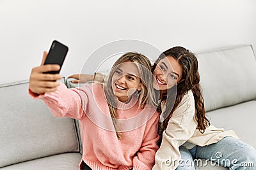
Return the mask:
[[244,169],[243,162],[256,165],[252,146],[237,139],[234,131],[210,125],[205,117],[198,61],[193,53],[180,46],[166,50],[156,60],[153,74],[163,120],[159,123],[162,139],[153,169],[195,169],[193,159],[197,158],[230,169]]

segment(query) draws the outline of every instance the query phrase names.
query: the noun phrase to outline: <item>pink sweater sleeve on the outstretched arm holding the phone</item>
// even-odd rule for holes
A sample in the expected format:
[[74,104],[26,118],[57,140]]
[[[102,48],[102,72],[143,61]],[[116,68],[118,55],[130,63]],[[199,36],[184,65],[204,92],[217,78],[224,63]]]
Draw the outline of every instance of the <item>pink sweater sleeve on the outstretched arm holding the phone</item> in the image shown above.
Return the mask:
[[36,95],[29,90],[29,95],[34,99],[42,99],[55,117],[70,117],[81,119],[88,103],[86,86],[81,89],[67,89],[60,83],[57,90],[51,93]]

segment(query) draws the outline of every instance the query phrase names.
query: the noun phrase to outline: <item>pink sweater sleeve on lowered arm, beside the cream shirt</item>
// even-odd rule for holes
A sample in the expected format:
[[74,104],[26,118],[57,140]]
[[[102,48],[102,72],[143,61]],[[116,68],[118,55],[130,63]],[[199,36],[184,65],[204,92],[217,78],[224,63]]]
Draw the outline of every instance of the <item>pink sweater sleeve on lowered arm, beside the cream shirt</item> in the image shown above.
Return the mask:
[[156,111],[147,122],[140,150],[132,160],[134,170],[151,170],[154,166],[155,155],[158,149],[157,141],[159,139],[157,134],[158,122],[159,113]]

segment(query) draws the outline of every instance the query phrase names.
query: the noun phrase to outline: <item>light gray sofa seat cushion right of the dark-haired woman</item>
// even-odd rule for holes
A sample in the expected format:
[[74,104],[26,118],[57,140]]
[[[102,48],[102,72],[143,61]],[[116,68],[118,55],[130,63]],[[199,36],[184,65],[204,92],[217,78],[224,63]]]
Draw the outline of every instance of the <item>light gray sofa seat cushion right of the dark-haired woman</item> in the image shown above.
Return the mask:
[[212,125],[223,127],[225,130],[234,130],[242,141],[256,148],[256,101],[209,111],[207,117],[211,118]]

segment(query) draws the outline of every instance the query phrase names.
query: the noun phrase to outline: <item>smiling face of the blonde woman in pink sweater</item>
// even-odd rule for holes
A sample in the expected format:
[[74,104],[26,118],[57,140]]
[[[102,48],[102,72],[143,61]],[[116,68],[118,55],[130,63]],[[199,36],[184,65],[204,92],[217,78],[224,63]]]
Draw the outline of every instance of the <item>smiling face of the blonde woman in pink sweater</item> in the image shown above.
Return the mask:
[[113,73],[111,85],[119,101],[128,101],[136,90],[141,90],[141,80],[136,64],[131,61],[119,64]]

